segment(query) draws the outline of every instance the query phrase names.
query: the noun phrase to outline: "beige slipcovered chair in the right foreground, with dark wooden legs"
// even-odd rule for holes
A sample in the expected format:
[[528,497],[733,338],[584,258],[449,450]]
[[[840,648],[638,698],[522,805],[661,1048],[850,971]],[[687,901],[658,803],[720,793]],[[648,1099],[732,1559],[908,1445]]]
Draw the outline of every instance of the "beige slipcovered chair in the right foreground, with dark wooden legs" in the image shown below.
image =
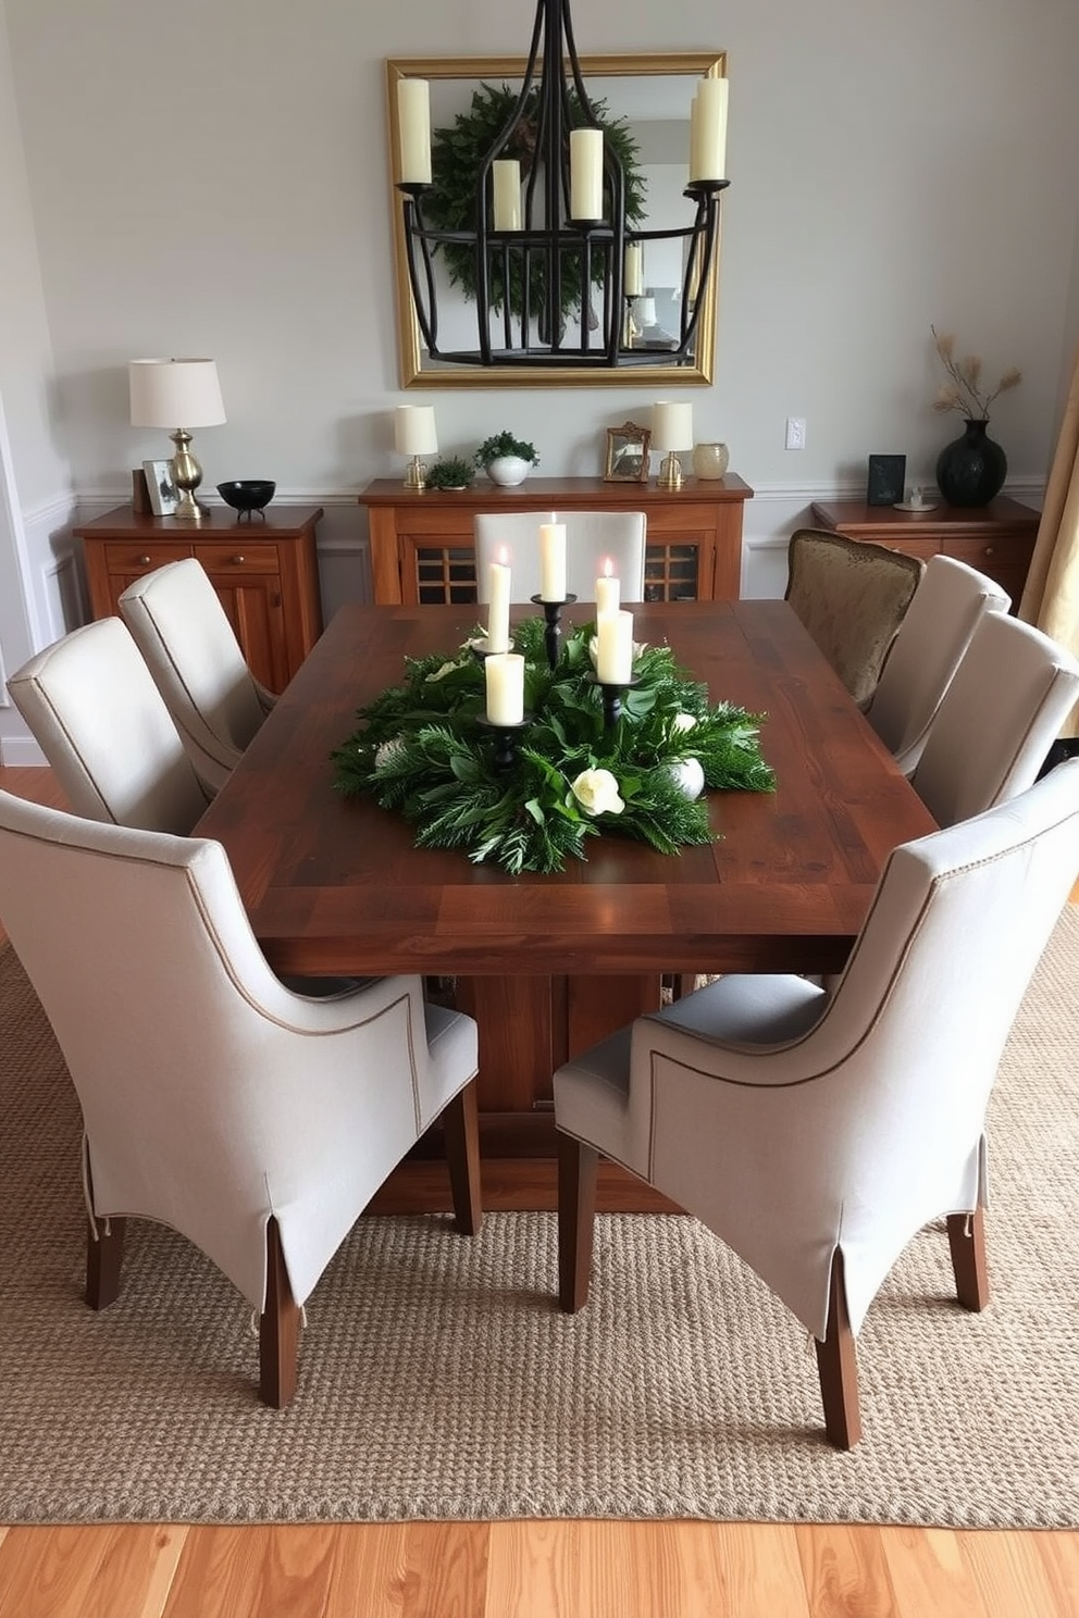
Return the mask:
[[854,1445],[854,1335],[914,1233],[946,1218],[959,1302],[988,1301],[985,1108],[1076,869],[1079,759],[896,848],[835,993],[733,974],[560,1068],[561,1307],[587,1299],[603,1152],[814,1333],[828,1438]]

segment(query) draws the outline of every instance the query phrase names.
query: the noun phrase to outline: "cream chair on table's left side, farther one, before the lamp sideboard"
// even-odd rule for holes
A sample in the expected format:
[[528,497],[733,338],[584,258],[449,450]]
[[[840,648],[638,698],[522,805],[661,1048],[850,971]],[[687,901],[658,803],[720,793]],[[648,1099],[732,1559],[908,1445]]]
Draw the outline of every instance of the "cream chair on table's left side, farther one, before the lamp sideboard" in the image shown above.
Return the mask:
[[217,791],[273,707],[194,557],[136,579],[120,613],[202,781]]

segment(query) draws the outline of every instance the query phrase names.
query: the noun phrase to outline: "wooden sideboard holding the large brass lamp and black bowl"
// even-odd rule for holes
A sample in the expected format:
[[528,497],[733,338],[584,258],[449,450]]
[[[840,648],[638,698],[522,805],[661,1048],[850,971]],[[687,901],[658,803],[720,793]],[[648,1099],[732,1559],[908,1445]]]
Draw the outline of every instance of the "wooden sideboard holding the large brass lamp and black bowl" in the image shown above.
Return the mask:
[[110,618],[128,584],[183,557],[205,568],[256,680],[283,691],[322,634],[315,526],[322,506],[275,506],[239,523],[209,506],[201,523],[120,506],[74,529],[91,612]]

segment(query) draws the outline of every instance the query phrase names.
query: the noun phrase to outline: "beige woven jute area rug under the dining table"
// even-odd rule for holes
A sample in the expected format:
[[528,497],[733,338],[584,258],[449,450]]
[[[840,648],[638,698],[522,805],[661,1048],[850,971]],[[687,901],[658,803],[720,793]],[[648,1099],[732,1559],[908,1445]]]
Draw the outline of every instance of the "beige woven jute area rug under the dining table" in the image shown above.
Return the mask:
[[79,1116],[0,950],[0,1521],[702,1516],[1079,1526],[1079,914],[1050,945],[992,1112],[993,1301],[943,1228],[859,1336],[865,1437],[822,1437],[798,1322],[686,1217],[603,1217],[558,1314],[555,1222],[362,1218],[309,1304],[299,1393],[186,1241],[131,1222],[121,1299],[83,1302]]

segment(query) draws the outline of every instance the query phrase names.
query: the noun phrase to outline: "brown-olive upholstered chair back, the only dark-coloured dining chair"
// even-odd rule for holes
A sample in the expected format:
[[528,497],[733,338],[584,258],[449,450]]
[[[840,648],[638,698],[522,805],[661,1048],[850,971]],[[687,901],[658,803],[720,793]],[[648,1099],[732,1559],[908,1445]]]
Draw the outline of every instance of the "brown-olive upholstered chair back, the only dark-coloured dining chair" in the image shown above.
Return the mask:
[[799,527],[788,545],[786,600],[862,707],[880,678],[924,563],[825,529]]

